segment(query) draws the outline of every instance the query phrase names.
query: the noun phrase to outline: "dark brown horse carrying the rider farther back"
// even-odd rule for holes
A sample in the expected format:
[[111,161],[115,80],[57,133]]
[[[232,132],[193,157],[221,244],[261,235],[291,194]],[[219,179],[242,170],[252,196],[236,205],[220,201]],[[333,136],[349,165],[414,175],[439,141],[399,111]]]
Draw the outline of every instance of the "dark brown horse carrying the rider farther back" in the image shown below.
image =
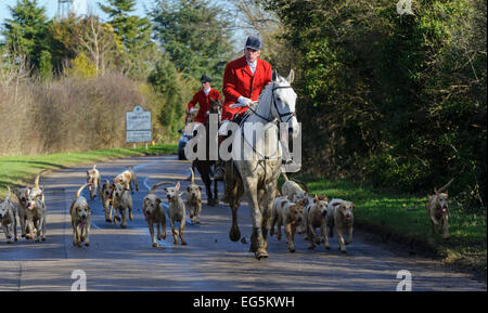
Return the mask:
[[[222,104],[220,102],[220,100],[213,100],[211,97],[210,100],[210,109],[209,109],[209,114],[218,114],[218,127],[220,126],[220,121],[221,121],[221,109],[222,109]],[[202,181],[205,184],[205,191],[207,193],[207,200],[208,200],[208,205],[209,206],[215,206],[219,204],[219,198],[218,198],[218,190],[217,190],[217,181],[213,179],[213,167],[215,167],[215,161],[214,160],[209,160],[209,118],[207,119],[207,122],[205,123],[205,131],[206,131],[206,159],[205,160],[200,160],[200,159],[195,159],[194,160],[194,166],[196,167],[196,170],[200,172],[200,175],[202,177]],[[211,181],[214,181],[214,193],[211,191]]]

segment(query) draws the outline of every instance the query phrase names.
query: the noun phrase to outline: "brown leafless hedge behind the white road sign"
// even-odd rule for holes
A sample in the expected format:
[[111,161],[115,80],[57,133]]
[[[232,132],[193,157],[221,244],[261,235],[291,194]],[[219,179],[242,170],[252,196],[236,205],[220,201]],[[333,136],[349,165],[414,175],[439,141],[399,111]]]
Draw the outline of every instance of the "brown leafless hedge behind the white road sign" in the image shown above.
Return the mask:
[[121,75],[2,84],[0,155],[126,146],[125,113],[134,105],[151,108],[138,83]]

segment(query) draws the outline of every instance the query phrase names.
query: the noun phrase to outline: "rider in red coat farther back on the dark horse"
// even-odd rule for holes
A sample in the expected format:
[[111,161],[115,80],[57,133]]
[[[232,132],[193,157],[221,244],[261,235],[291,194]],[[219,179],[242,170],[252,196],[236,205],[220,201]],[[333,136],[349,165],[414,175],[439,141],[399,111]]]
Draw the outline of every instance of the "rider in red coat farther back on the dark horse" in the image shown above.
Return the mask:
[[204,74],[201,78],[202,89],[198,90],[188,104],[188,113],[192,114],[196,110],[195,105],[198,104],[200,109],[196,114],[195,121],[205,123],[208,119],[210,110],[210,100],[220,100],[220,92],[210,87],[211,79]]

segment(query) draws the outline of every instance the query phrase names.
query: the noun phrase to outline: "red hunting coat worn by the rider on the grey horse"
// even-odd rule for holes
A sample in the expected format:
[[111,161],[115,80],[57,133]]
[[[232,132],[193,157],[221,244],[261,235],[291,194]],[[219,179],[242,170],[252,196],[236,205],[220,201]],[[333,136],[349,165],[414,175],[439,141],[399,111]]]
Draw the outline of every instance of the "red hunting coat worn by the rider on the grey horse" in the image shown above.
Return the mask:
[[271,82],[271,65],[257,58],[256,71],[251,70],[245,55],[229,62],[223,73],[223,95],[226,100],[222,106],[222,120],[232,119],[239,112],[245,112],[247,107],[230,108],[229,105],[236,103],[239,96],[258,101],[261,90]]

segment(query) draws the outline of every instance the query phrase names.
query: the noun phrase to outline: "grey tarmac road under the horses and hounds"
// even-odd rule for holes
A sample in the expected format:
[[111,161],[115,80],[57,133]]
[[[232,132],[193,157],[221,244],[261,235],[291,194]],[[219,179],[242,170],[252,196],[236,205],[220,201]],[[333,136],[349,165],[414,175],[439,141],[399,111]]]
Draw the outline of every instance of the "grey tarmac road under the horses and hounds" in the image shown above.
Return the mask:
[[[47,240],[35,243],[21,238],[5,244],[0,232],[0,290],[64,290],[79,282],[72,274],[84,271],[88,290],[172,290],[172,291],[301,291],[301,290],[385,290],[395,291],[400,270],[411,273],[412,290],[486,290],[486,283],[468,274],[457,273],[421,257],[394,252],[384,246],[367,243],[360,234],[338,251],[337,238],[331,250],[322,246],[307,248],[296,235],[296,252],[281,242],[269,238],[269,258],[258,261],[248,252],[251,220],[248,208],[240,209],[240,227],[246,243],[233,243],[228,233],[231,212],[227,205],[202,210],[202,223],[187,223],[188,246],[174,246],[169,223],[167,236],[153,248],[141,205],[147,186],[163,181],[189,182],[190,162],[176,155],[141,157],[98,164],[102,178],[113,178],[133,165],[139,192],[133,195],[134,220],[127,229],[105,223],[99,198],[90,200],[93,209],[90,246],[73,246],[68,209],[86,171],[91,165],[63,169],[41,177],[46,184],[48,207]],[[202,184],[197,175],[197,183]],[[88,191],[84,191],[88,197]],[[156,192],[166,197],[162,188]],[[219,188],[222,195],[222,185]],[[77,272],[75,272],[76,274]]]

